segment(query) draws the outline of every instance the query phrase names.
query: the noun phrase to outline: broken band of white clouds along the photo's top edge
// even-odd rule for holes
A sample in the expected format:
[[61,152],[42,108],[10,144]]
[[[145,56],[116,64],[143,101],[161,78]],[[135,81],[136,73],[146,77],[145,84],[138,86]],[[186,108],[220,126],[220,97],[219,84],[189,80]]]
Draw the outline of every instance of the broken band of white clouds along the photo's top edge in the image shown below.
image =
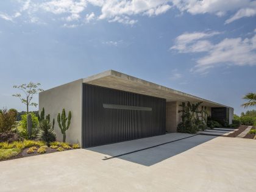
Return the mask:
[[[137,23],[136,15],[157,16],[176,7],[180,12],[188,12],[191,15],[210,13],[224,16],[233,14],[226,24],[243,17],[256,15],[256,1],[251,0],[16,0],[21,4],[17,14],[26,13],[30,17],[38,18],[40,11],[51,12],[60,15],[66,21],[84,21],[85,15],[90,12],[87,5],[99,7],[101,11],[95,19],[107,20],[124,24]],[[13,21],[15,16],[1,13],[4,20]],[[19,15],[19,16],[21,16]],[[26,17],[25,17],[26,18]]]

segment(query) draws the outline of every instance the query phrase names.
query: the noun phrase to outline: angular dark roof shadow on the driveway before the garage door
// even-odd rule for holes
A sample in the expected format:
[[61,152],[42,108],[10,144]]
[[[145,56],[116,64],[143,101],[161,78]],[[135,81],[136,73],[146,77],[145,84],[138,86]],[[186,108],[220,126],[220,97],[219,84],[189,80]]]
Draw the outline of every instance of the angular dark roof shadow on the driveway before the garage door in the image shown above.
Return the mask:
[[213,138],[216,138],[216,136],[168,133],[140,140],[107,144],[88,148],[87,150],[111,156],[103,156],[102,160],[108,161],[112,158],[120,158],[140,165],[151,166]]

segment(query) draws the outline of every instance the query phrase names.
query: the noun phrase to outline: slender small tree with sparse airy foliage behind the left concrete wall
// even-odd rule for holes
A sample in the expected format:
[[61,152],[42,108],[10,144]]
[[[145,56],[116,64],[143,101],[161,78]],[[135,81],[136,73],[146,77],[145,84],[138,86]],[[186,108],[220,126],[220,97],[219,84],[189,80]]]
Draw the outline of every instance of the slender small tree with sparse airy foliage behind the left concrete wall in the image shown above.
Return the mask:
[[43,91],[41,88],[38,88],[41,84],[37,83],[34,84],[30,82],[29,84],[22,84],[22,85],[14,85],[13,88],[18,88],[23,93],[13,94],[12,96],[20,98],[23,104],[27,106],[27,114],[29,113],[29,106],[37,107],[37,103],[31,102],[33,99],[34,94],[37,94],[40,91]]

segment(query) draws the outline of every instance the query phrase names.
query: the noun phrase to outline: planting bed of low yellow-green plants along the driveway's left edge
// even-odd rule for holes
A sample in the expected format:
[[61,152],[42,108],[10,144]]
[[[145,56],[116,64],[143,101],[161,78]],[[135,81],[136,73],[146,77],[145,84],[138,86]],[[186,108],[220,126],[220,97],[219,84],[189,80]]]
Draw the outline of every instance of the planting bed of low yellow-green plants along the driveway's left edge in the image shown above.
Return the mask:
[[0,162],[5,160],[12,160],[15,158],[30,157],[35,155],[49,154],[52,152],[60,152],[78,149],[78,144],[69,144],[54,141],[48,146],[43,141],[15,141],[13,143],[0,143]]

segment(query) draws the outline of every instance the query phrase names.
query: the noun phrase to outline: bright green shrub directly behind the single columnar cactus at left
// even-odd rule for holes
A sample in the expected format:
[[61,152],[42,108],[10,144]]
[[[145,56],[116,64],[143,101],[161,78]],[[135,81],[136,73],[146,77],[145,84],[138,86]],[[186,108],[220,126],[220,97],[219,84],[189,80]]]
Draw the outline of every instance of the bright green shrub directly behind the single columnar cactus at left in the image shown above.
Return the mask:
[[[35,139],[37,138],[39,129],[38,129],[38,118],[34,113],[30,113],[31,118],[32,118],[32,134],[31,138]],[[27,115],[21,115],[21,127],[23,128],[22,131],[20,132],[21,137],[28,139],[29,135],[27,132]]]

